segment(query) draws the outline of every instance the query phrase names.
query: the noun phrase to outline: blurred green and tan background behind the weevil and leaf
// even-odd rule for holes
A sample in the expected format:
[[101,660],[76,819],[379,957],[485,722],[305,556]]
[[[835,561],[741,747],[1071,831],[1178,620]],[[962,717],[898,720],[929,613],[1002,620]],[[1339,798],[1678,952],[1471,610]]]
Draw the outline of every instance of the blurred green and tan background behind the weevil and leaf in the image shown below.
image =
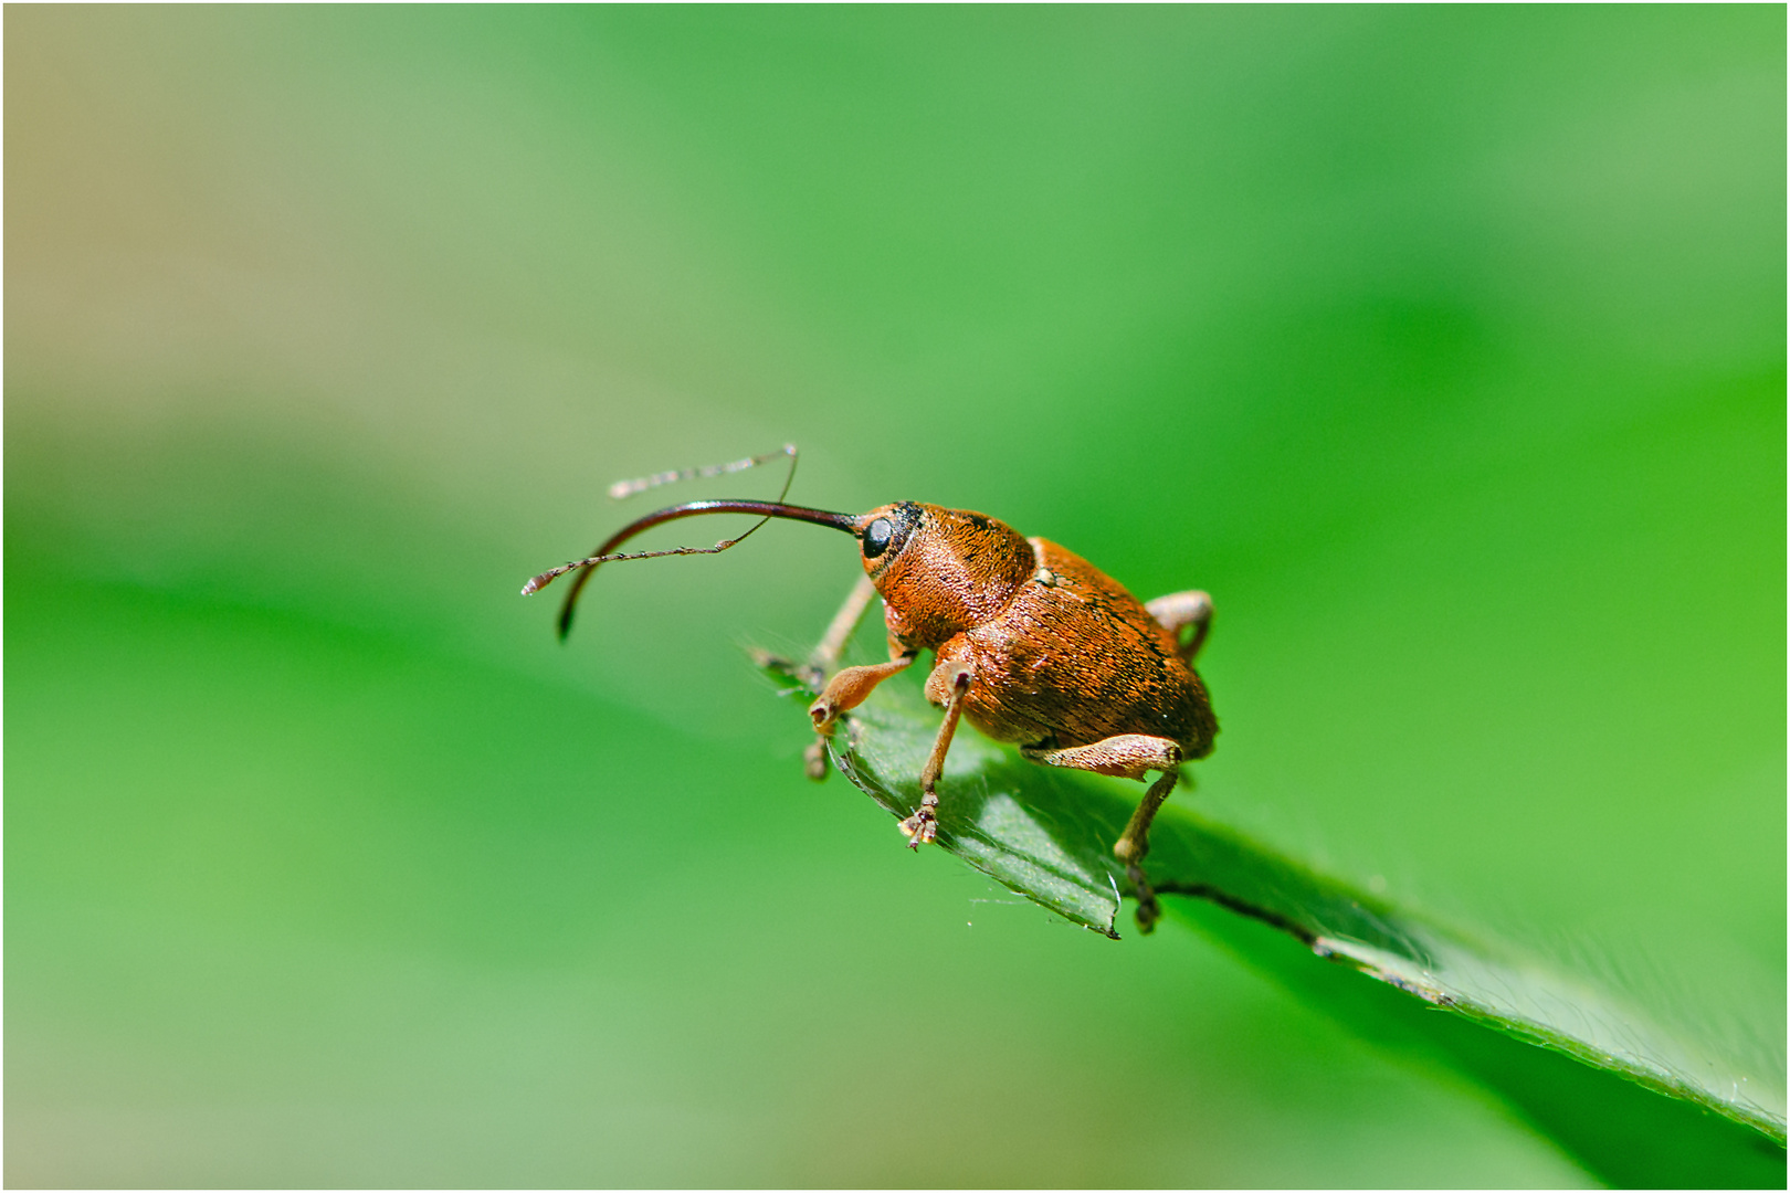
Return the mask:
[[1588,1180],[807,785],[834,535],[517,597],[786,440],[1210,588],[1205,810],[1781,1071],[1781,7],[5,34],[9,1184]]

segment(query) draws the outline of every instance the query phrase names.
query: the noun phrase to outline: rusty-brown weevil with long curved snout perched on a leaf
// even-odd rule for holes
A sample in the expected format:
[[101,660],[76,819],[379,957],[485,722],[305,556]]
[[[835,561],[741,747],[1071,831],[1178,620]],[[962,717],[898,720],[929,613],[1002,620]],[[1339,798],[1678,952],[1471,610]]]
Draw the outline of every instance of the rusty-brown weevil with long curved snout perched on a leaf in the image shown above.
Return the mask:
[[[720,476],[788,454],[755,456],[714,469],[664,472],[610,488],[625,497],[686,476]],[[791,463],[793,476],[793,463]],[[945,710],[933,753],[920,773],[920,807],[900,823],[918,848],[938,832],[938,778],[958,719],[1044,766],[1060,766],[1138,782],[1158,778],[1131,814],[1113,855],[1137,889],[1138,928],[1149,932],[1162,910],[1144,876],[1149,825],[1180,780],[1180,767],[1212,753],[1217,719],[1192,660],[1212,624],[1212,597],[1174,592],[1140,603],[1119,581],[1047,538],[1026,538],[1006,522],[970,510],[897,501],[868,513],[834,513],[777,501],[689,501],[648,513],[610,535],[591,558],[528,581],[539,592],[557,576],[578,578],[560,608],[560,637],[598,563],[666,554],[725,551],[770,519],[831,526],[857,538],[865,574],[834,617],[807,671],[823,683],[809,706],[820,735],[807,751],[811,778],[825,778],[825,739],[840,715],[861,705],[890,676],[933,651],[925,698]],[[712,547],[618,553],[644,529],[700,513],[755,513],[759,520]],[[852,630],[872,596],[882,597],[890,662],[838,667]]]

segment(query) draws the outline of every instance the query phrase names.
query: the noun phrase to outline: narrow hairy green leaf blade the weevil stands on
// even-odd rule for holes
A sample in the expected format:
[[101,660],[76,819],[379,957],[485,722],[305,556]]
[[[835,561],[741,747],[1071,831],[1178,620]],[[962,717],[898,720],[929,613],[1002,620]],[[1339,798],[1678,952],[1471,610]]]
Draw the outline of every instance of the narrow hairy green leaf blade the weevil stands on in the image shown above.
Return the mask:
[[[811,690],[811,676],[759,664]],[[900,819],[918,807],[936,732],[938,712],[913,685],[884,683],[841,723],[832,758]],[[1112,842],[1135,801],[1119,783],[1033,766],[959,732],[940,782],[938,846],[1119,939],[1128,884]],[[1611,1184],[1785,1184],[1781,1059],[1724,1055],[1586,977],[1396,909],[1172,803],[1151,832],[1147,871],[1158,894],[1187,896],[1165,900],[1171,919],[1359,1032],[1495,1089]]]

